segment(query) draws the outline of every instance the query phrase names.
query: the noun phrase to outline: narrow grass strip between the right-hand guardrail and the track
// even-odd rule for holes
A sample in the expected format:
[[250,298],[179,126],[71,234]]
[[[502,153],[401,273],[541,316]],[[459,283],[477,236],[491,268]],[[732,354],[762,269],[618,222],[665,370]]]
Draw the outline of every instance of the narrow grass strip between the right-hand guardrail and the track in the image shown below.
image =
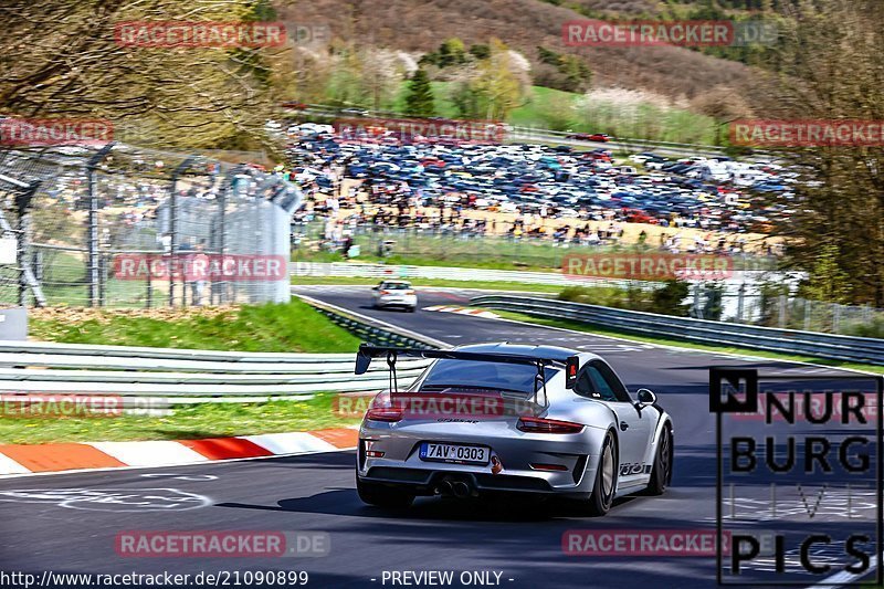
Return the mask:
[[690,341],[682,341],[666,337],[648,337],[643,335],[635,335],[625,332],[618,332],[614,329],[606,329],[594,325],[587,325],[578,322],[569,322],[564,319],[547,319],[543,317],[532,317],[523,313],[513,313],[511,311],[494,309],[497,315],[507,318],[516,319],[525,323],[534,323],[537,325],[547,325],[549,327],[564,327],[566,329],[573,329],[575,332],[585,332],[587,334],[617,337],[620,339],[628,339],[630,341],[639,341],[642,344],[657,344],[661,346],[673,346],[685,349],[696,349],[704,351],[719,351],[724,354],[735,354],[740,356],[755,356],[758,358],[770,358],[772,360],[783,361],[803,361],[813,362],[823,366],[831,366],[833,368],[844,368],[846,370],[859,370],[862,372],[874,372],[884,375],[884,366],[874,366],[870,364],[845,362],[841,360],[830,360],[827,358],[813,358],[811,356],[793,356],[789,354],[778,354],[776,351],[765,351],[750,348],[737,348],[732,346],[712,346],[707,344],[694,344]]

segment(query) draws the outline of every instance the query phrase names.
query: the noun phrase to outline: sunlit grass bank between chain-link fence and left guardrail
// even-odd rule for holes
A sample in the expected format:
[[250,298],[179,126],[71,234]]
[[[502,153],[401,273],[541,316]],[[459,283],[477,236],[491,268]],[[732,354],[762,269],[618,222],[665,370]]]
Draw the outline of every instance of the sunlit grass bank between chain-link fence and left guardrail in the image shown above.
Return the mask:
[[[147,312],[149,313],[149,312]],[[30,320],[35,339],[235,351],[354,351],[359,339],[301,301],[248,305],[221,313],[182,312],[173,320],[103,313],[82,322],[67,317]]]

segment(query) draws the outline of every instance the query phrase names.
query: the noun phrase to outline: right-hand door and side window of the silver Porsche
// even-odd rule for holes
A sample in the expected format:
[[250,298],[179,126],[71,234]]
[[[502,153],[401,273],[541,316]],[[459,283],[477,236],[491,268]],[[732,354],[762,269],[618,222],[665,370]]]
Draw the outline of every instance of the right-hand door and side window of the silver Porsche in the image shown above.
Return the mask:
[[655,416],[651,410],[639,411],[627,387],[617,374],[602,360],[591,360],[587,375],[592,387],[617,416],[618,440],[620,442],[620,488],[645,484],[652,464],[645,454],[651,438]]

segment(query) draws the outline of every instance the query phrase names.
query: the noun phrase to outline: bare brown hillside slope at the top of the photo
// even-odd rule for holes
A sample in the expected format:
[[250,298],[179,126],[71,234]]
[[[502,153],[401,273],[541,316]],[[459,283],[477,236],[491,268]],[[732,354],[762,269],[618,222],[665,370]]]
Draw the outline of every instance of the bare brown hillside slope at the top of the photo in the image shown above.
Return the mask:
[[541,45],[583,56],[594,86],[645,88],[673,98],[692,98],[717,85],[748,93],[754,78],[740,63],[682,48],[568,48],[561,25],[583,17],[541,0],[314,0],[278,12],[292,22],[326,23],[335,36],[409,52],[435,50],[452,36],[467,45],[497,36],[536,61]]

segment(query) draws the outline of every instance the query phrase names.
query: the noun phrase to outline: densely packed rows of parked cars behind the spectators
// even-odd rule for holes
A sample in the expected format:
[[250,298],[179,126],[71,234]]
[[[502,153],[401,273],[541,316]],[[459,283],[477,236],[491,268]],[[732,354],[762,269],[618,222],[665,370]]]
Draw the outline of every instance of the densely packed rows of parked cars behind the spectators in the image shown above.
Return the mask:
[[[610,150],[569,146],[385,145],[345,139],[332,133],[301,137],[288,148],[296,178],[307,175],[330,188],[322,169],[344,166],[345,176],[396,187],[423,204],[455,203],[505,212],[552,208],[559,217],[606,218],[614,209],[629,221],[748,231],[759,222],[788,217],[759,194],[789,192],[789,178],[774,168],[747,168],[728,158],[670,160],[652,151],[615,166]],[[639,168],[643,168],[640,172]],[[737,173],[757,176],[738,186]],[[748,190],[747,190],[748,189]]]

